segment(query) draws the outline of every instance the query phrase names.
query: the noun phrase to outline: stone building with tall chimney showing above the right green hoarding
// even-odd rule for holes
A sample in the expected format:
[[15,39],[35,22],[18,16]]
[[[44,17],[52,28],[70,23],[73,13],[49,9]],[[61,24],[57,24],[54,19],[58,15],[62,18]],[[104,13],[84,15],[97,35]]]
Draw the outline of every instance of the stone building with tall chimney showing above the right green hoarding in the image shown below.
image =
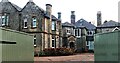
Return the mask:
[[115,30],[120,30],[120,23],[110,20],[105,20],[102,24],[102,15],[101,11],[97,12],[97,28],[96,33],[107,33],[107,32],[113,32]]

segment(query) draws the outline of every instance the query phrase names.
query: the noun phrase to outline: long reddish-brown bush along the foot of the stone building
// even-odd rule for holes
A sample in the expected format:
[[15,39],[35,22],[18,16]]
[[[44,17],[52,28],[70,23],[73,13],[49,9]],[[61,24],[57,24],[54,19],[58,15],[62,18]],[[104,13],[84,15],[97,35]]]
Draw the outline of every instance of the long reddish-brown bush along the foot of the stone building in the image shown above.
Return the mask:
[[45,56],[64,56],[72,54],[74,54],[74,49],[71,48],[46,48],[43,50],[43,55]]

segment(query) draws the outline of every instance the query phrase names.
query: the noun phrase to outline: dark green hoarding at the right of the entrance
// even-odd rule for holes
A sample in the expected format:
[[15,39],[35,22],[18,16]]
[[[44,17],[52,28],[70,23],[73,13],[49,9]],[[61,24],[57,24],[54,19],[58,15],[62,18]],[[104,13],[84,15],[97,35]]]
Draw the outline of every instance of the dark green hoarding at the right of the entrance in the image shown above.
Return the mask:
[[120,61],[120,31],[95,35],[95,61]]

